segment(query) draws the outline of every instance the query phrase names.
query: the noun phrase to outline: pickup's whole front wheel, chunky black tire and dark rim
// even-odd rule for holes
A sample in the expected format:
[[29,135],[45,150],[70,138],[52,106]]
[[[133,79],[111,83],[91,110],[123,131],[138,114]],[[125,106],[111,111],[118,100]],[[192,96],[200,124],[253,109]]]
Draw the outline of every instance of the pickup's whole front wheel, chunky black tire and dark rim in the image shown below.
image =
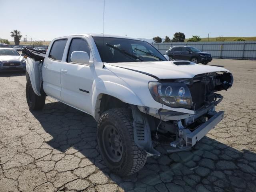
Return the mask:
[[112,172],[128,176],[145,165],[146,151],[134,142],[131,110],[117,108],[104,112],[97,133],[100,154]]

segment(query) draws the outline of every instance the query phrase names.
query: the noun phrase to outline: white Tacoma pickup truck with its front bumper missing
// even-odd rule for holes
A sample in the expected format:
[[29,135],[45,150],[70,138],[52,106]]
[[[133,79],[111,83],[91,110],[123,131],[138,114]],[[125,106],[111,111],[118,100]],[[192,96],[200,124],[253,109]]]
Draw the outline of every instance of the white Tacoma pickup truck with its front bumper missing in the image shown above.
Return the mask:
[[220,67],[168,61],[148,42],[77,34],[52,40],[46,54],[25,49],[26,98],[41,110],[50,96],[98,122],[98,147],[110,170],[126,176],[148,156],[187,150],[224,117],[217,91],[232,86]]

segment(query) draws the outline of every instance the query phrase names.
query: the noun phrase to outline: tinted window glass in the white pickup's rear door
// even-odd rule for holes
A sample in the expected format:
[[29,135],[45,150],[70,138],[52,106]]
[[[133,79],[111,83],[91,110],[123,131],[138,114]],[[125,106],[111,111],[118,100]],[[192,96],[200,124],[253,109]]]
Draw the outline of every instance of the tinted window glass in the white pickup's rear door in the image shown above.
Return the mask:
[[68,39],[54,41],[48,57],[56,61],[61,61],[67,41]]

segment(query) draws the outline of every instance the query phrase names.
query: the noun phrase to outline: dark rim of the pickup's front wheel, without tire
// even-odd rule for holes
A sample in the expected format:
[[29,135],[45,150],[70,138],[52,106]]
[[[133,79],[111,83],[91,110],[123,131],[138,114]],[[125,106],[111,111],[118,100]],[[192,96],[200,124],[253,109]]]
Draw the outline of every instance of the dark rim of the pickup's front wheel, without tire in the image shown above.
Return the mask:
[[107,125],[102,133],[103,147],[112,162],[119,162],[123,155],[123,144],[115,126]]

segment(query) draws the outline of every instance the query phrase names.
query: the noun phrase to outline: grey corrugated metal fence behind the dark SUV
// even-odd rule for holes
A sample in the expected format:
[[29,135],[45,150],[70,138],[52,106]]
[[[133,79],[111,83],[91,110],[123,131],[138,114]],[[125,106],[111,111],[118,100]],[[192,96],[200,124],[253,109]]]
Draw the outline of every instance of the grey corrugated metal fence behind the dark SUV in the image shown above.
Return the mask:
[[256,41],[232,41],[232,42],[177,42],[154,43],[162,54],[170,47],[183,45],[193,46],[203,52],[212,54],[213,58],[224,59],[250,59],[256,60]]

